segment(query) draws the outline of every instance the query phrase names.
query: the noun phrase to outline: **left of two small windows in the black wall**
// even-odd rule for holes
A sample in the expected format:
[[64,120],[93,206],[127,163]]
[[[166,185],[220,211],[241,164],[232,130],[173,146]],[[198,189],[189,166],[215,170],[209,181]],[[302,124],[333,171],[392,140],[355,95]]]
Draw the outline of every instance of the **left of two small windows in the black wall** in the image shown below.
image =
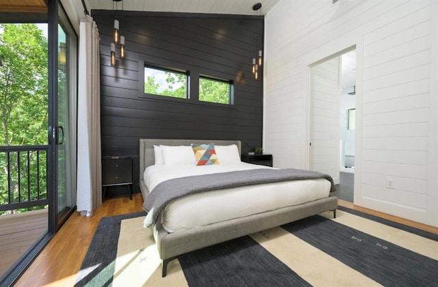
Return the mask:
[[144,67],[144,94],[187,98],[187,87],[185,72]]

